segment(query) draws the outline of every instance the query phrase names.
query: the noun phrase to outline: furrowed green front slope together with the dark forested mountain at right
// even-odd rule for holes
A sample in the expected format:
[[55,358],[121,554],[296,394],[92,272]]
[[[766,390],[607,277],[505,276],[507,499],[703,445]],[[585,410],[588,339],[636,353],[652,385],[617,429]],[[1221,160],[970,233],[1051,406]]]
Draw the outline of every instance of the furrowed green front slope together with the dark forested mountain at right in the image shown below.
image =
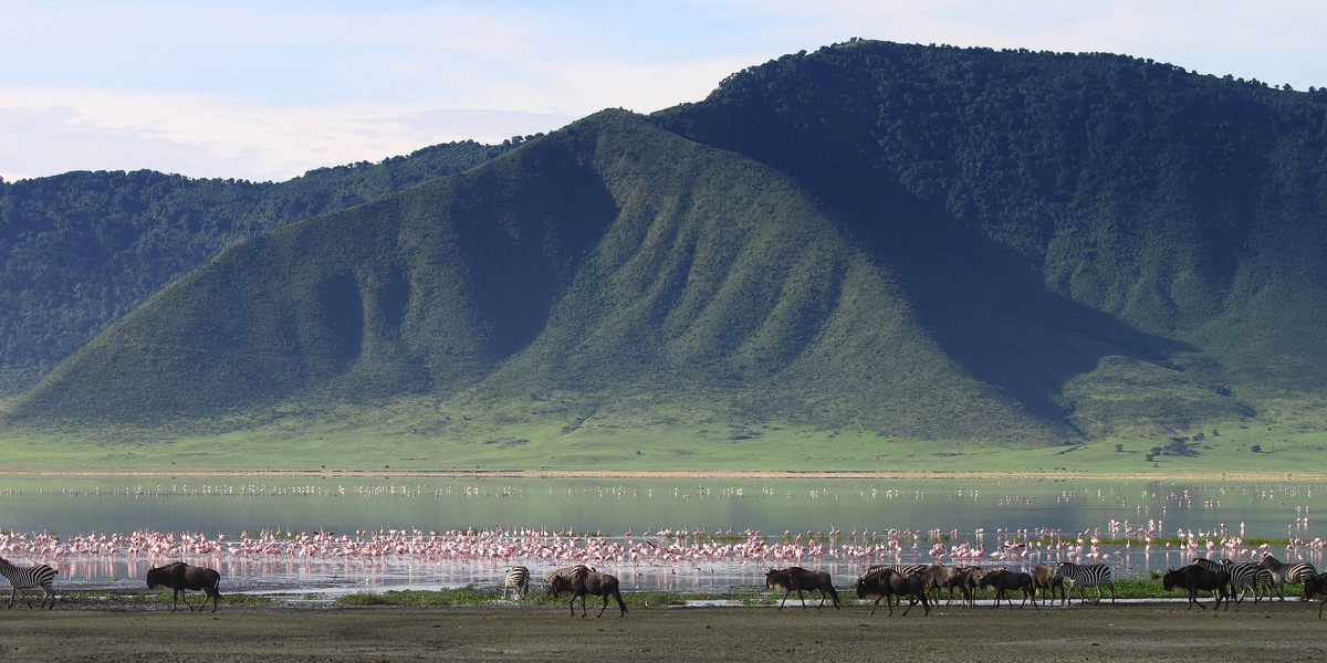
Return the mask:
[[9,415],[1200,431],[1327,390],[1324,155],[1318,90],[852,41],[239,241]]

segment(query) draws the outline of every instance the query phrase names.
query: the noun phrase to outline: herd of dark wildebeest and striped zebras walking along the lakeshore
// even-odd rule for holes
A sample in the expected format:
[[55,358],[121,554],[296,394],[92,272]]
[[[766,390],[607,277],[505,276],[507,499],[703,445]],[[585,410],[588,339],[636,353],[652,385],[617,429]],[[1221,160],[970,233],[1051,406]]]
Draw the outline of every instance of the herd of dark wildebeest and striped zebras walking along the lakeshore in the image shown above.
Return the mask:
[[[41,607],[56,606],[53,590],[54,578],[58,572],[48,565],[16,566],[0,557],[0,575],[9,581],[9,605],[13,607],[17,597],[27,591],[41,591]],[[508,573],[503,589],[503,598],[507,591],[515,591],[519,598],[529,590],[529,569],[514,566]],[[222,594],[218,590],[220,574],[212,569],[190,566],[184,562],[167,564],[153,568],[147,572],[147,587],[157,590],[171,590],[171,611],[175,611],[179,599],[192,613],[194,606],[188,602],[187,591],[203,591],[203,605],[199,610],[212,602],[212,611],[218,609]],[[766,587],[783,591],[783,601],[779,610],[788,602],[794,591],[805,610],[805,593],[820,594],[821,609],[825,601],[831,601],[835,609],[841,607],[839,591],[833,586],[833,578],[824,572],[808,570],[800,566],[788,569],[771,569],[764,577]],[[1194,560],[1194,564],[1181,569],[1168,569],[1161,577],[1162,589],[1166,591],[1184,590],[1189,594],[1189,609],[1206,606],[1198,602],[1198,591],[1210,591],[1213,597],[1213,610],[1220,610],[1221,603],[1230,610],[1230,599],[1238,597],[1243,602],[1249,591],[1254,593],[1257,603],[1263,591],[1271,599],[1271,590],[1278,589],[1285,599],[1286,585],[1302,585],[1302,597],[1306,601],[1318,601],[1318,618],[1322,619],[1323,607],[1327,606],[1327,573],[1318,573],[1311,564],[1291,562],[1282,564],[1271,554],[1265,554],[1262,562],[1233,562],[1223,560],[1214,562],[1210,560]],[[572,617],[576,615],[576,599],[581,599],[581,617],[587,615],[587,599],[600,597],[604,602],[598,615],[608,610],[608,601],[613,598],[621,610],[621,617],[626,617],[626,603],[622,601],[621,585],[616,575],[600,573],[585,565],[568,566],[553,572],[545,578],[547,593],[552,598],[568,601]],[[954,599],[954,590],[959,593],[959,599],[965,607],[975,607],[978,589],[991,589],[995,591],[995,601],[991,607],[999,607],[1001,602],[1010,607],[1014,605],[1013,594],[1020,597],[1019,609],[1028,602],[1034,609],[1038,606],[1038,595],[1044,590],[1054,603],[1056,598],[1060,605],[1068,603],[1072,590],[1079,590],[1079,598],[1087,602],[1088,587],[1096,590],[1096,603],[1104,598],[1103,587],[1109,587],[1111,602],[1115,602],[1115,582],[1111,568],[1104,564],[1075,564],[1059,562],[1056,566],[1038,565],[1032,573],[1013,572],[1007,569],[989,569],[982,566],[945,566],[933,565],[880,565],[867,569],[867,573],[857,578],[855,589],[859,599],[871,599],[871,614],[876,614],[880,599],[885,599],[889,614],[894,614],[894,599],[902,607],[908,599],[906,615],[917,603],[921,603],[925,615],[930,614],[932,606],[940,603],[941,590],[947,590],[949,597],[945,605]],[[46,602],[50,606],[46,606]],[[28,602],[32,607],[32,602]]]

